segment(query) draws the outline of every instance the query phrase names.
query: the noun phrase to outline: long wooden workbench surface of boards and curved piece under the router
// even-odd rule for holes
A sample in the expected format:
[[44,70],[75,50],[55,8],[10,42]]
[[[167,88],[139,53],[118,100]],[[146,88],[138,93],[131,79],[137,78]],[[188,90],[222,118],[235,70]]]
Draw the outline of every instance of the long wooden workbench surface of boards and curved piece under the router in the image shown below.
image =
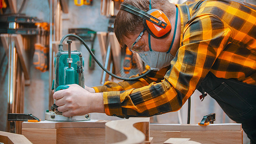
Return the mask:
[[[129,139],[130,134],[136,134],[134,127],[146,135],[146,138],[141,136],[145,139],[142,144],[169,144],[164,143],[169,138],[188,138],[190,141],[202,144],[243,144],[242,125],[238,123],[208,126],[149,124],[149,118],[23,122],[22,134],[33,144],[109,144],[118,142],[120,137]],[[137,139],[138,134],[136,135],[131,141]]]

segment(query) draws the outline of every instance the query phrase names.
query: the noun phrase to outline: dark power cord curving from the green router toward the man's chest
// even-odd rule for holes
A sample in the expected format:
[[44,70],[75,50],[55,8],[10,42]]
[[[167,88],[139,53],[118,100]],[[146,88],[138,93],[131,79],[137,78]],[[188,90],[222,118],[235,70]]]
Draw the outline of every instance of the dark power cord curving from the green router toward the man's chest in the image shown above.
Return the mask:
[[65,36],[63,36],[61,38],[61,41],[60,41],[60,44],[59,44],[59,51],[63,50],[63,41],[65,38],[67,38],[68,36],[72,36],[72,37],[75,37],[77,38],[79,41],[82,42],[82,44],[85,46],[85,48],[89,51],[90,55],[93,57],[93,59],[98,63],[98,65],[100,66],[101,69],[103,69],[105,72],[107,72],[108,74],[110,74],[111,76],[113,76],[114,78],[117,78],[117,79],[120,79],[120,80],[124,80],[124,81],[135,81],[135,80],[138,80],[144,76],[146,76],[149,72],[151,72],[152,70],[148,70],[147,72],[145,72],[144,74],[138,76],[138,77],[134,77],[134,78],[123,78],[123,77],[120,77],[120,76],[117,76],[113,73],[111,73],[110,71],[108,71],[107,69],[105,69],[102,64],[96,59],[96,57],[94,56],[93,52],[91,51],[91,49],[86,45],[85,41],[79,37],[79,36],[76,36],[76,35],[73,35],[73,34],[67,34]]

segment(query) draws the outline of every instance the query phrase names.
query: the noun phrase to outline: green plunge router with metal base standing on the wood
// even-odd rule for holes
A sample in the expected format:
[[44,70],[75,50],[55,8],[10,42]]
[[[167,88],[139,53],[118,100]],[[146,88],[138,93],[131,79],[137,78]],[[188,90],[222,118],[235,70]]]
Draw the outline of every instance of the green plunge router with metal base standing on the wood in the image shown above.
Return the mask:
[[[84,79],[84,58],[80,51],[71,51],[72,40],[67,40],[68,51],[64,51],[61,47],[54,58],[55,80],[52,82],[52,90],[54,92],[67,89],[67,84],[78,84],[85,88]],[[90,120],[90,115],[64,117],[62,112],[58,111],[58,106],[51,106],[51,111],[45,113],[45,120],[53,121],[81,121]]]

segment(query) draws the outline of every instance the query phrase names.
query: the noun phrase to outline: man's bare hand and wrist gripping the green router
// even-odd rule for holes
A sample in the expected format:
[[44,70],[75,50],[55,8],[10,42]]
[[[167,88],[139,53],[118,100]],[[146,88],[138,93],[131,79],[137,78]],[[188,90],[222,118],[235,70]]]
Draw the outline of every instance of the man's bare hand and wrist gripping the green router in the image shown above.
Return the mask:
[[65,117],[85,115],[91,112],[104,113],[103,93],[90,93],[77,84],[53,94],[58,111]]

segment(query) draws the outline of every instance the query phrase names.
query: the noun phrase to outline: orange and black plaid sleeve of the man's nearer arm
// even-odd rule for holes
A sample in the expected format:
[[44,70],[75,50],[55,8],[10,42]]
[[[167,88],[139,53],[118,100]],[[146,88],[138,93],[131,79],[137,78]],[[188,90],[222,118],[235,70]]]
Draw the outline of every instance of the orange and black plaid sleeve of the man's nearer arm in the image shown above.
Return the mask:
[[184,28],[182,47],[162,82],[104,92],[106,114],[129,118],[179,110],[207,75],[230,35],[229,27],[212,15],[192,18]]

